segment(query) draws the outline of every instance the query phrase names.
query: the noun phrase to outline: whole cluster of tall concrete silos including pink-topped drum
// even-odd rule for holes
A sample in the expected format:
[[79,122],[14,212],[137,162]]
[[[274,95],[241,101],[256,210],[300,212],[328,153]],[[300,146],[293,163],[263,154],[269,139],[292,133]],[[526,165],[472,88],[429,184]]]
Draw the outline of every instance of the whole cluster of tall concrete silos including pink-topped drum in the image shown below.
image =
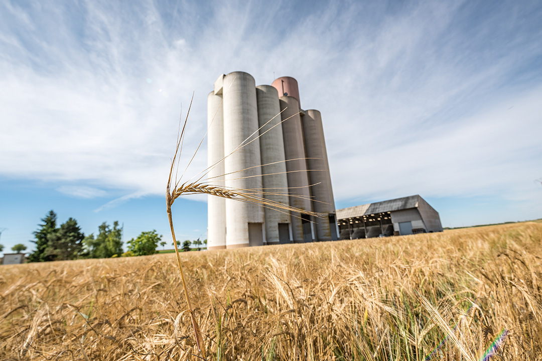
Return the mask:
[[256,86],[246,72],[221,75],[208,96],[210,184],[259,192],[313,217],[209,196],[208,249],[337,240],[318,110],[301,110],[298,84]]

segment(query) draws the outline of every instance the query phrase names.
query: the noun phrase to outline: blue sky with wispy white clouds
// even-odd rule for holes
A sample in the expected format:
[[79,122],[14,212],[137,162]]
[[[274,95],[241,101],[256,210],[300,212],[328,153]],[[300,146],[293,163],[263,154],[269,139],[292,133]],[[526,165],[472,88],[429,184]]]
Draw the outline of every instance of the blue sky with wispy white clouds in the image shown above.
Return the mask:
[[[421,195],[444,227],[542,217],[542,3],[0,0],[0,244],[49,210],[171,242],[165,186],[222,73],[299,83],[337,209]],[[207,166],[207,142],[188,178]],[[207,238],[178,198],[177,238]]]

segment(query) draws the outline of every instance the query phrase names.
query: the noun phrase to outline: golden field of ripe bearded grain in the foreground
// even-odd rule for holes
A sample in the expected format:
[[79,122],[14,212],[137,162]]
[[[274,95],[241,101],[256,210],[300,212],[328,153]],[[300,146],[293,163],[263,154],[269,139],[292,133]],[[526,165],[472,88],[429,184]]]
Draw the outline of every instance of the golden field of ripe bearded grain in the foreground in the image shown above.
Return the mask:
[[[181,253],[208,360],[542,360],[542,223]],[[0,267],[0,359],[197,360],[174,254]]]

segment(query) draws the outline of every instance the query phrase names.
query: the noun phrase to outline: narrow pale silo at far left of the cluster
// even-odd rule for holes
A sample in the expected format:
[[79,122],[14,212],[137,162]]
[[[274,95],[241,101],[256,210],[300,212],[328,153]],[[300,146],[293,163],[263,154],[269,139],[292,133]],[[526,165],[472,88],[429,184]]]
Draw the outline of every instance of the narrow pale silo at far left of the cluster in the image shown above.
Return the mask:
[[[208,178],[210,183],[224,186],[224,118],[222,96],[211,91],[207,97],[207,164],[212,167]],[[226,248],[226,205],[225,199],[208,196],[207,248]]]

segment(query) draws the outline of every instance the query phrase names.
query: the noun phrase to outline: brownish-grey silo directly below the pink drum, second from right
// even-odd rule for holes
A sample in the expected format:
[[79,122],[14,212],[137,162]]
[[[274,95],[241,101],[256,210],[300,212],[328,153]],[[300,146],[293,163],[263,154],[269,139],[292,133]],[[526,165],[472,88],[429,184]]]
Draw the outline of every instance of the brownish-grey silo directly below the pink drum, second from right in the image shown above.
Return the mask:
[[[311,211],[311,192],[307,175],[303,129],[299,115],[298,100],[294,97],[280,97],[282,120],[282,137],[288,171],[288,186],[290,205],[306,211]],[[287,120],[285,120],[287,119]],[[295,159],[288,161],[288,159]],[[292,213],[292,235],[294,242],[311,242],[312,223],[310,217],[300,213]]]

